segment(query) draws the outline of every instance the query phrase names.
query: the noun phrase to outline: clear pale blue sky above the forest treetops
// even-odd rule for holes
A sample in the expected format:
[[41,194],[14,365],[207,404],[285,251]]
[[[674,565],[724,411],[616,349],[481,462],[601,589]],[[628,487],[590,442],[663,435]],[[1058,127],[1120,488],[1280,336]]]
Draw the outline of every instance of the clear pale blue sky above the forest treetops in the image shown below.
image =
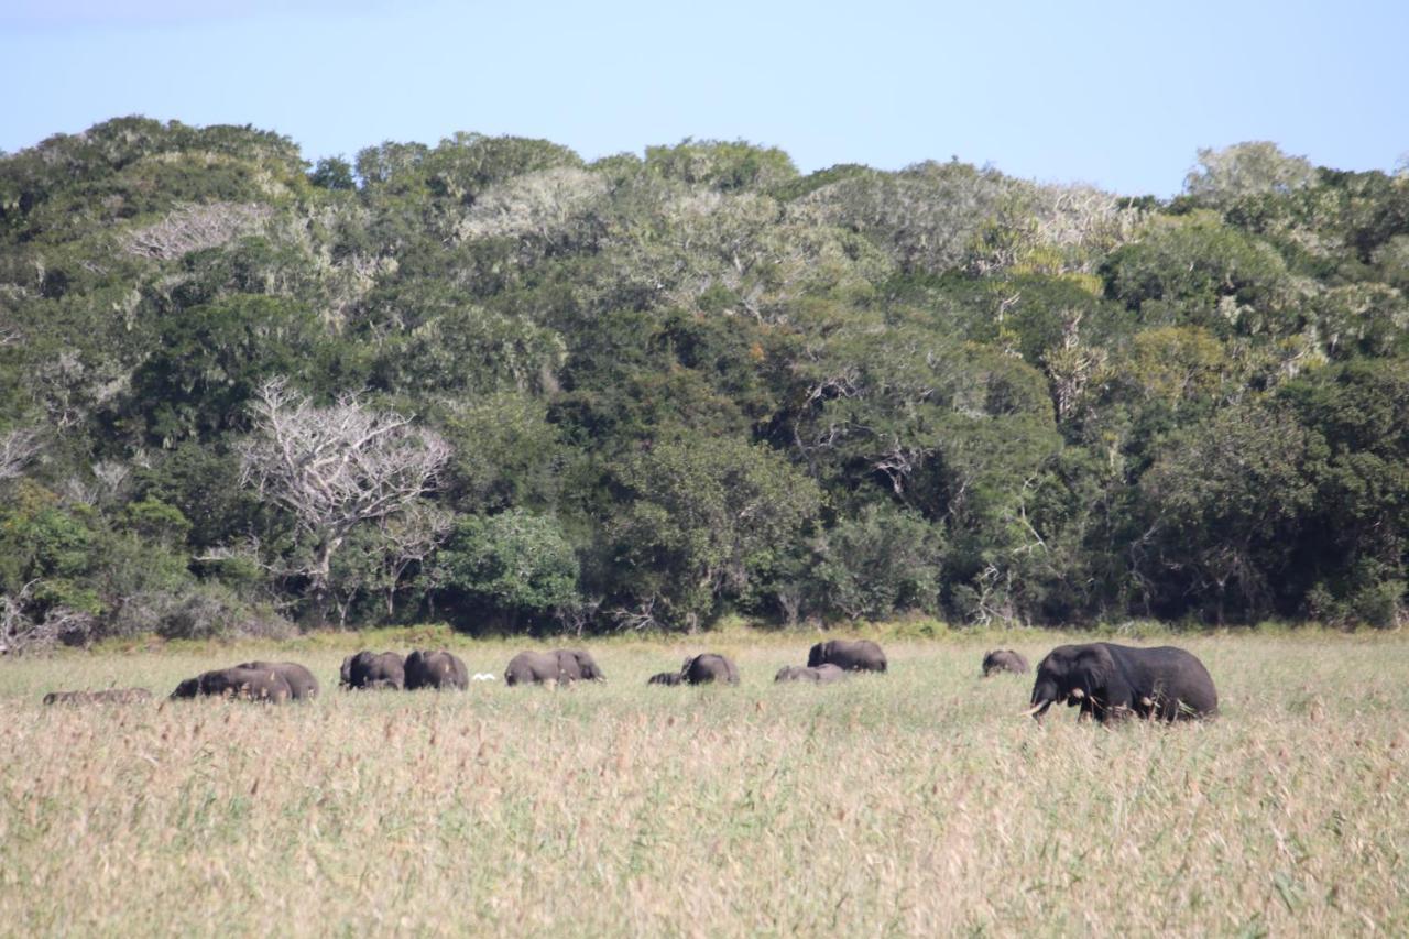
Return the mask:
[[457,130],[589,159],[744,138],[803,171],[954,155],[1168,196],[1196,148],[1247,140],[1392,169],[1406,41],[1405,0],[3,0],[0,149],[145,114],[310,159]]

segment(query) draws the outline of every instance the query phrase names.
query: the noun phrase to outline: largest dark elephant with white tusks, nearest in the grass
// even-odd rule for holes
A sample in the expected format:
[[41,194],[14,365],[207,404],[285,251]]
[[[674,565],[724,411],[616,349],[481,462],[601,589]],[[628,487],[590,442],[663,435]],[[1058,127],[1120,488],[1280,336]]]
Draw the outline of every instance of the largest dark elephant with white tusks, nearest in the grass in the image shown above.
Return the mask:
[[1061,701],[1081,706],[1078,719],[1093,716],[1102,723],[1129,715],[1160,720],[1208,718],[1219,709],[1219,692],[1208,668],[1172,646],[1058,646],[1037,665],[1029,713],[1041,718]]

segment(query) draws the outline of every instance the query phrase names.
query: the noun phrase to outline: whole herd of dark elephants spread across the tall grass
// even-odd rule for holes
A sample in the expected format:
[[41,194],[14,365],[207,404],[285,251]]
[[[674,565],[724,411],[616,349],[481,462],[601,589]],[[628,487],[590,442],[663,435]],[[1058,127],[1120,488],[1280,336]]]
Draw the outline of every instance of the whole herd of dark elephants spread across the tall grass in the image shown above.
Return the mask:
[[[876,643],[830,640],[817,643],[806,665],[785,665],[775,682],[831,684],[851,673],[885,673],[885,651]],[[983,656],[982,673],[1027,674],[1027,660],[1010,649]],[[493,675],[476,675],[493,678]],[[397,653],[359,651],[342,661],[340,687],[347,689],[449,691],[469,687],[469,670],[454,653],[417,650],[404,658]],[[569,685],[578,681],[606,681],[590,653],[579,649],[521,651],[504,668],[507,685]],[[652,675],[651,685],[738,684],[738,667],[726,656],[690,656],[678,671]],[[173,699],[225,696],[280,704],[318,695],[318,680],[297,663],[247,661],[217,668],[182,681]],[[149,701],[145,688],[106,691],[55,691],[44,704],[134,704]],[[1041,718],[1054,704],[1081,708],[1078,719],[1106,723],[1126,716],[1158,720],[1209,718],[1217,713],[1219,696],[1213,678],[1195,656],[1171,646],[1134,649],[1115,643],[1058,646],[1037,665],[1029,715]]]

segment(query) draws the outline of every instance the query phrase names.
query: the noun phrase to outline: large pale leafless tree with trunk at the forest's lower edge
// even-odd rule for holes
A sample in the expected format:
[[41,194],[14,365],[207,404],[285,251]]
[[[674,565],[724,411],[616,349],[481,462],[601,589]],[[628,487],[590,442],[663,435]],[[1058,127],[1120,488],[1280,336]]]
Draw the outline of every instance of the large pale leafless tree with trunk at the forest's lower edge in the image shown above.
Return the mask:
[[348,533],[406,512],[433,489],[449,444],[406,415],[368,410],[355,395],[314,406],[282,378],[259,389],[254,415],[242,481],[287,509],[310,536],[313,553],[302,572],[323,619],[331,558]]

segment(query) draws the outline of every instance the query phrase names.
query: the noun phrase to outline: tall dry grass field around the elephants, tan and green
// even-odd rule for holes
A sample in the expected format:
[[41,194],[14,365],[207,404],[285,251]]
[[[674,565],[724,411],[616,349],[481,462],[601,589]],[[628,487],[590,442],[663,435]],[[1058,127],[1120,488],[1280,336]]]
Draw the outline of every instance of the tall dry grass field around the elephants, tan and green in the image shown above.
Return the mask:
[[[606,685],[444,695],[337,692],[354,636],[0,661],[0,929],[1409,932],[1409,637],[1179,640],[1222,718],[1115,730],[1019,716],[1030,677],[979,680],[969,640],[774,687],[809,642],[589,644]],[[743,687],[644,685],[710,649]],[[323,698],[39,705],[254,654]]]

